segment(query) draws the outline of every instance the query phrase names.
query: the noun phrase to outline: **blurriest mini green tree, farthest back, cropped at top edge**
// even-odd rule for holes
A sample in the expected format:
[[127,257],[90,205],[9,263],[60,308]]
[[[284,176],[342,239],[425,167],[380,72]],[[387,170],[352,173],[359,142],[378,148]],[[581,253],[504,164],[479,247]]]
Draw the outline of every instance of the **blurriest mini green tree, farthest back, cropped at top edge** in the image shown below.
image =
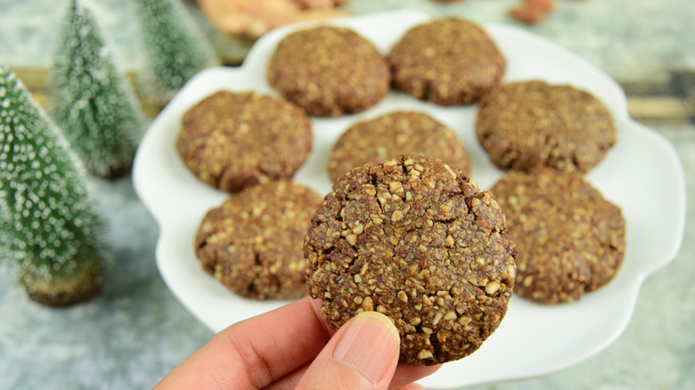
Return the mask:
[[218,59],[180,1],[135,0],[145,63],[143,85],[168,102],[200,70]]

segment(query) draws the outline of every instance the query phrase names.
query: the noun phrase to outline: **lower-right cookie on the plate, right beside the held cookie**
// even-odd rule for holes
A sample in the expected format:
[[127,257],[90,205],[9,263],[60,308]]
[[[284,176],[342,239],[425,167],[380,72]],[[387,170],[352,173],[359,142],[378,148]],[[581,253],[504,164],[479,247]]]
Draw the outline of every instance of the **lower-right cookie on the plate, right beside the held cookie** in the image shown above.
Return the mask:
[[543,304],[576,301],[623,262],[620,208],[572,172],[511,171],[492,188],[519,249],[514,293]]

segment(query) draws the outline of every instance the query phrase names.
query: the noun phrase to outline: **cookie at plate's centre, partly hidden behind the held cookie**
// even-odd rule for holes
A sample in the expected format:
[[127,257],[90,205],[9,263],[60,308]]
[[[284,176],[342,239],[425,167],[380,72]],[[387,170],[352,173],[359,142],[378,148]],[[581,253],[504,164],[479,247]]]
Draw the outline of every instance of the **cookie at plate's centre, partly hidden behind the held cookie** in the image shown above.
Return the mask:
[[421,112],[397,111],[350,126],[328,160],[333,182],[353,167],[378,164],[400,154],[441,158],[470,172],[470,157],[449,127]]

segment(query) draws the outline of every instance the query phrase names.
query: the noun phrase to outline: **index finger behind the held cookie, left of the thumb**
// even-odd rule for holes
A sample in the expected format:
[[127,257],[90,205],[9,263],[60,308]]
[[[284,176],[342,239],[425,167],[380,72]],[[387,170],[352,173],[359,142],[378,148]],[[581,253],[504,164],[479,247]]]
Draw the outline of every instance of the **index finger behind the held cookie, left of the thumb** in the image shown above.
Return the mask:
[[311,362],[331,335],[309,297],[233,324],[155,388],[262,388]]

